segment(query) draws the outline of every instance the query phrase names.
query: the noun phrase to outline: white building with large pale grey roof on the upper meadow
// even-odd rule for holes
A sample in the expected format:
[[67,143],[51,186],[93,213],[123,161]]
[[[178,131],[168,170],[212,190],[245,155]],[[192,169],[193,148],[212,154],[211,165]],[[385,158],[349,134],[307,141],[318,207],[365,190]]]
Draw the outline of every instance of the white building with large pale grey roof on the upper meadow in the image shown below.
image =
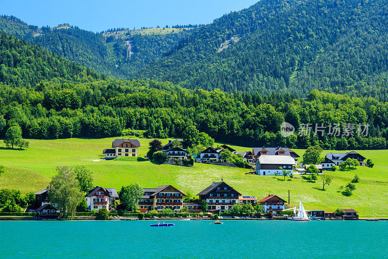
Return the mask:
[[256,160],[256,173],[259,175],[275,175],[286,170],[292,173],[295,159],[291,155],[260,155]]

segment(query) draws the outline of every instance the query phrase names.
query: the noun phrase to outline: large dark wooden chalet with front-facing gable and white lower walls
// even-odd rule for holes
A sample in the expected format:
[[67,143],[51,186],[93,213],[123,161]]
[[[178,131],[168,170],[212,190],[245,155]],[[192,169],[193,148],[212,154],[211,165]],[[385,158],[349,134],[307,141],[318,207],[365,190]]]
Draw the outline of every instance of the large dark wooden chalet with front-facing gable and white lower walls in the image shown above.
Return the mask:
[[197,195],[199,200],[205,200],[208,203],[209,210],[228,210],[239,202],[239,196],[242,194],[222,180],[217,183],[213,182]]

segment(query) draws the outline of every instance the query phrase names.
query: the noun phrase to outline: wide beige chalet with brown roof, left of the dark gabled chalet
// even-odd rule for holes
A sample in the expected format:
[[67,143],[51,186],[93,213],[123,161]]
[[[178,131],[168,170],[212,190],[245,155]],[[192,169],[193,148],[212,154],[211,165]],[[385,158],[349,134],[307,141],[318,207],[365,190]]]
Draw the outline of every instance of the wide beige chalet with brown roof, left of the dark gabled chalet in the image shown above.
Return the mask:
[[186,194],[182,190],[178,190],[172,185],[162,185],[157,188],[145,188],[144,194],[139,200],[139,208],[147,208],[148,210],[162,210],[170,208],[174,211],[179,211],[183,206],[183,197]]

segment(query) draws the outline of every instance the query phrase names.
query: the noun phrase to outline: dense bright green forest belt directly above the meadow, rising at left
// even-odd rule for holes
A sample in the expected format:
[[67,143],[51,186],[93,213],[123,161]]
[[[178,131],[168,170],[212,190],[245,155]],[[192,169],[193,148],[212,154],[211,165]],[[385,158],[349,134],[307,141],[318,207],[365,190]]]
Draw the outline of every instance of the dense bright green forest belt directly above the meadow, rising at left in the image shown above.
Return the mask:
[[[189,125],[242,146],[325,149],[387,148],[388,103],[311,91],[291,94],[189,90],[172,83],[121,81],[0,33],[0,137],[15,124],[25,138],[120,136],[145,130],[149,138],[182,136]],[[371,125],[369,136],[283,138],[280,123]]]

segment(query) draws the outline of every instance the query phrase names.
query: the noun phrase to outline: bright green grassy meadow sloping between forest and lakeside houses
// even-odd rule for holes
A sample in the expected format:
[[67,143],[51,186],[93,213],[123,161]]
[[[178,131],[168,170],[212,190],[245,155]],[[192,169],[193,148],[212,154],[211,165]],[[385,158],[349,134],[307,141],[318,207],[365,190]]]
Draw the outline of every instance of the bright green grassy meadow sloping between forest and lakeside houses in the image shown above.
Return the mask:
[[[350,171],[328,172],[334,177],[330,186],[322,190],[318,178],[316,183],[303,179],[286,179],[278,176],[259,176],[249,173],[248,169],[228,168],[205,164],[194,164],[192,168],[156,165],[149,161],[93,161],[100,158],[104,148],[110,148],[114,138],[100,139],[30,139],[26,150],[6,149],[0,141],[0,165],[5,166],[6,173],[0,175],[0,188],[19,189],[23,193],[45,188],[59,165],[85,165],[94,172],[94,184],[120,189],[123,185],[139,183],[142,187],[153,188],[163,184],[172,184],[185,192],[197,194],[213,181],[221,177],[244,195],[256,195],[259,199],[268,193],[275,193],[288,200],[291,193],[291,206],[297,199],[302,199],[307,209],[335,210],[338,207],[355,208],[360,215],[372,213],[372,199],[375,214],[387,215],[388,207],[388,158],[387,150],[359,151],[361,155],[371,158],[373,168],[357,167]],[[139,155],[147,152],[150,139],[139,139]],[[168,139],[161,139],[162,143]],[[216,144],[217,145],[217,144]],[[247,147],[232,146],[237,151],[251,150]],[[304,150],[294,150],[303,155]],[[329,151],[324,151],[326,154]],[[301,160],[301,159],[300,159]],[[361,178],[356,190],[350,197],[339,193],[339,187],[345,186],[355,174]],[[300,177],[300,176],[298,176]]]

